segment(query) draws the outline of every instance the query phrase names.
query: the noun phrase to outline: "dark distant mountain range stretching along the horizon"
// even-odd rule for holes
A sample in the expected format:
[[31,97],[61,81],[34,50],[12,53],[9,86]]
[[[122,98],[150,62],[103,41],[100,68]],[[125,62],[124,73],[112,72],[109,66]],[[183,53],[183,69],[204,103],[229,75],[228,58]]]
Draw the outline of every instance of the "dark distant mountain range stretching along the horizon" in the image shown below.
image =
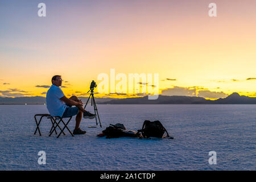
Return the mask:
[[[79,97],[85,104],[88,97]],[[162,96],[157,100],[148,100],[148,96],[134,98],[97,98],[96,104],[256,104],[256,97],[240,96],[232,93],[226,98],[207,100],[203,97]],[[91,99],[89,101],[89,104]],[[0,97],[0,104],[46,104],[46,97]]]

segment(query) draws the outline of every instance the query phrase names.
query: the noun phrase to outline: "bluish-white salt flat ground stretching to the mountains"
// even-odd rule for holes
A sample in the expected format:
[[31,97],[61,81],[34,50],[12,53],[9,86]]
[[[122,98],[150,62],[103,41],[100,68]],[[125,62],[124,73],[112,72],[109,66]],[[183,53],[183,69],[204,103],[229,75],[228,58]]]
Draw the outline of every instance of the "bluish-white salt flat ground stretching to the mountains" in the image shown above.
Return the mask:
[[[256,105],[97,105],[102,128],[83,119],[85,135],[48,137],[49,120],[39,134],[34,114],[45,105],[0,105],[0,170],[255,170]],[[158,119],[171,139],[98,138],[109,123],[141,129]],[[69,124],[73,130],[75,118]],[[38,152],[46,152],[46,165]],[[209,151],[217,164],[209,165]]]

